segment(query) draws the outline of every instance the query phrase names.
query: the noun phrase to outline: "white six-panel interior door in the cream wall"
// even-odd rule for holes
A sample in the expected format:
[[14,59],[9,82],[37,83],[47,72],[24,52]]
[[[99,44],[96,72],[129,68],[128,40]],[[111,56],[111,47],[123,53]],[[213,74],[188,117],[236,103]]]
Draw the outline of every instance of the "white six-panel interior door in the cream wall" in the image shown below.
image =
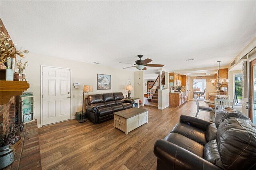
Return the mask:
[[42,67],[42,125],[70,119],[70,69]]

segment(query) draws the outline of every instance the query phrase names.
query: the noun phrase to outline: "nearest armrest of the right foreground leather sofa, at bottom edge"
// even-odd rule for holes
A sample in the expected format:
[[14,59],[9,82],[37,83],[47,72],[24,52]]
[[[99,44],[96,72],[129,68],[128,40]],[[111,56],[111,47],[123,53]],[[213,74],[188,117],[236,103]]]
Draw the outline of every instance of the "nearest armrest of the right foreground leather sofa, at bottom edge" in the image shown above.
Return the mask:
[[220,170],[218,166],[166,140],[156,140],[154,154],[161,170]]

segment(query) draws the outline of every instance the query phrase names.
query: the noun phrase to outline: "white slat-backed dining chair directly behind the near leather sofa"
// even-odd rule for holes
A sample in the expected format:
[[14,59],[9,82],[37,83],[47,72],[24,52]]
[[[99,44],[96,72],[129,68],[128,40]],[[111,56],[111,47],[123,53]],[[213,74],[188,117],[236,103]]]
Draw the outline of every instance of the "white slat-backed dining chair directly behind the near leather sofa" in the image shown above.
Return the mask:
[[214,114],[214,117],[213,117],[212,121],[214,122],[215,116],[224,107],[234,108],[234,104],[235,104],[234,101],[235,101],[234,99],[215,99],[214,100],[214,110],[212,111],[212,113]]

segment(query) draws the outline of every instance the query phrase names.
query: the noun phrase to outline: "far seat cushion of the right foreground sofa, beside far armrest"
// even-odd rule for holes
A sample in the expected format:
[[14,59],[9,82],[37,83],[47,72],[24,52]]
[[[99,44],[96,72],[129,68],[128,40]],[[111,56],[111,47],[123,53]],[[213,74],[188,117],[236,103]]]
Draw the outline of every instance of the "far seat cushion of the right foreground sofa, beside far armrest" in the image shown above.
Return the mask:
[[185,123],[177,123],[171,132],[186,136],[202,145],[207,143],[205,131]]

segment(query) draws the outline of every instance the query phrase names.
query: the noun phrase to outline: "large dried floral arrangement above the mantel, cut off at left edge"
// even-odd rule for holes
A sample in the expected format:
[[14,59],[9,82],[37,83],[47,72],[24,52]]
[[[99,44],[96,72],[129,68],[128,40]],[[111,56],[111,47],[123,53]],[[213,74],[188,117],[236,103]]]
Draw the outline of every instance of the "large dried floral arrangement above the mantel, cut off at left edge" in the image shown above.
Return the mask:
[[16,58],[16,55],[20,55],[20,57],[24,57],[23,53],[28,53],[29,51],[26,49],[24,51],[15,50],[15,45],[10,43],[10,38],[6,36],[3,32],[1,35],[1,57],[0,63],[4,63],[7,61],[9,57]]

